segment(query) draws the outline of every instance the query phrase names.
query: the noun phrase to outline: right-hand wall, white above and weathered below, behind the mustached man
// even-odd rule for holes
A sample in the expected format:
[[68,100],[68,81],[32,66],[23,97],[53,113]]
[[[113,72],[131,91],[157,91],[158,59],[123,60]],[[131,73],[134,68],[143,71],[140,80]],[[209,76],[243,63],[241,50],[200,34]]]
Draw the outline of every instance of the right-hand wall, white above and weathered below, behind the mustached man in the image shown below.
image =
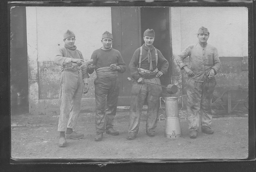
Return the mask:
[[[208,43],[218,49],[222,62],[214,94],[227,89],[248,88],[248,10],[244,7],[170,7],[170,35],[173,48],[172,82],[176,95],[186,94],[187,76],[174,58],[189,44],[198,42],[197,31],[208,28]],[[186,58],[188,62],[189,58]]]

